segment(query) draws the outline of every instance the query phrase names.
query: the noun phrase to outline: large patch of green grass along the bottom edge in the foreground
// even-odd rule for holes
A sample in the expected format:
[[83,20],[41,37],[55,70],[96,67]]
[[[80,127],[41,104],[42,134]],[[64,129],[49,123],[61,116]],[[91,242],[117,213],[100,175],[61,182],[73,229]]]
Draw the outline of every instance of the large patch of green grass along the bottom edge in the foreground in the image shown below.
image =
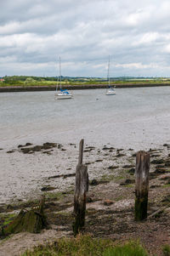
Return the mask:
[[47,245],[35,247],[22,256],[149,256],[139,242],[127,242],[115,245],[109,239],[97,239],[92,236],[61,238]]

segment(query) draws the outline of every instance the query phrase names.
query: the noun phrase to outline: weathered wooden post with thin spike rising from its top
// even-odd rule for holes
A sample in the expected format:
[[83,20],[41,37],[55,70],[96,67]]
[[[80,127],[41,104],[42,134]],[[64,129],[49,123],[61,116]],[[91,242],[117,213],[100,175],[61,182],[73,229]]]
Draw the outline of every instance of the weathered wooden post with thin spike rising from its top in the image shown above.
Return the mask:
[[84,139],[81,139],[79,145],[79,157],[76,170],[76,187],[74,195],[74,215],[73,223],[74,236],[81,232],[85,224],[86,212],[86,193],[88,192],[88,167],[82,164]]

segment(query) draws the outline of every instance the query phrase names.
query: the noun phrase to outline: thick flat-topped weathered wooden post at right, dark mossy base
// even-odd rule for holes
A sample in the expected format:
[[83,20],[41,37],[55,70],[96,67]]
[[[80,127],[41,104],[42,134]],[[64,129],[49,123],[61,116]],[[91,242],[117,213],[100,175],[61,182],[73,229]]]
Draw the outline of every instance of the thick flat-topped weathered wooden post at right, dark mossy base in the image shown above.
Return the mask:
[[135,220],[147,218],[150,154],[139,151],[136,155]]

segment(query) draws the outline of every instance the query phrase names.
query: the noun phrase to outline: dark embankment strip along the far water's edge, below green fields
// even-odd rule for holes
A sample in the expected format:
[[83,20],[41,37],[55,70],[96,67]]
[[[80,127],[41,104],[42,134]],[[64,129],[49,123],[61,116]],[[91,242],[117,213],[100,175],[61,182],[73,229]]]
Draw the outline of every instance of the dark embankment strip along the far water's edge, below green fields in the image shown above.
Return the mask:
[[[121,83],[121,84],[112,84],[112,87],[115,88],[144,88],[144,87],[165,87],[170,86],[170,83]],[[98,88],[107,88],[105,84],[78,84],[78,85],[62,85],[63,89],[69,90],[81,90],[81,89],[98,89]],[[37,91],[55,91],[56,85],[54,86],[15,86],[15,87],[0,87],[0,93],[14,93],[14,92],[37,92]]]

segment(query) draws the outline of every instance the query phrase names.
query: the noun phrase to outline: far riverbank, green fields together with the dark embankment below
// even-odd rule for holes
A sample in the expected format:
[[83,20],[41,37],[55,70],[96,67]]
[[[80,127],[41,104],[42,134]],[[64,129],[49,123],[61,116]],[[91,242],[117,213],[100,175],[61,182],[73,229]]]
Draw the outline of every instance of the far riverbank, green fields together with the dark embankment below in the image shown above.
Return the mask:
[[[111,86],[116,88],[169,86],[168,78],[111,78]],[[3,77],[0,82],[0,92],[55,90],[58,77]],[[89,77],[62,77],[62,88],[106,88],[108,81],[105,78]]]

